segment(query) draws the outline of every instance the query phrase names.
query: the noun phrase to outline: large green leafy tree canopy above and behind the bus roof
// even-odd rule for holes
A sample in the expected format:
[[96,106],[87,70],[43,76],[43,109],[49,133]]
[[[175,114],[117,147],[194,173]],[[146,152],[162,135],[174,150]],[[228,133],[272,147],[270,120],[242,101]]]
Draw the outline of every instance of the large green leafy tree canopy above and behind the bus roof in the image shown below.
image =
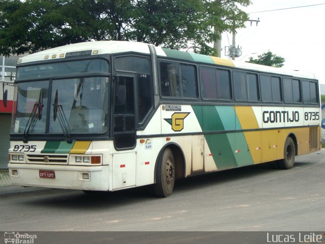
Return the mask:
[[213,54],[207,43],[216,40],[217,33],[244,27],[248,16],[239,7],[249,4],[249,0],[0,0],[0,53],[125,40]]

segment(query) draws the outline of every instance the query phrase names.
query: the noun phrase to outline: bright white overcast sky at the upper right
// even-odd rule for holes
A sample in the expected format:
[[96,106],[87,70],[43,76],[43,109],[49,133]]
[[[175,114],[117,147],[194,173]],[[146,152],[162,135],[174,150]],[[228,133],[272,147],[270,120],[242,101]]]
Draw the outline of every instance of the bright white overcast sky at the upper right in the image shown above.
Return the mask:
[[[244,62],[250,56],[257,58],[257,55],[270,50],[285,58],[284,69],[314,73],[319,83],[325,84],[325,0],[251,2],[250,6],[242,9],[250,19],[259,18],[260,22],[257,26],[255,22],[251,26],[247,22],[246,28],[236,30],[236,47],[242,48],[242,56],[236,60]],[[317,6],[295,8],[309,5]],[[231,44],[232,34],[223,33],[221,57],[229,58],[224,55],[224,46]]]

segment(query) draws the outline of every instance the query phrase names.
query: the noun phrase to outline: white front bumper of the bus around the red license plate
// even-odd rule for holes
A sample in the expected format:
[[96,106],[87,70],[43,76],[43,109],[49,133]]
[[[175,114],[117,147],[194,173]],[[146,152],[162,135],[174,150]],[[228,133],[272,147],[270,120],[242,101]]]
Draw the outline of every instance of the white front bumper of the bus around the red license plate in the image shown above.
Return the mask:
[[[8,168],[12,185],[15,186],[89,191],[109,190],[109,165],[85,167],[9,163]],[[13,170],[17,170],[18,175],[13,175]],[[54,171],[55,178],[41,178],[40,170]],[[89,174],[89,179],[83,179],[83,174]]]

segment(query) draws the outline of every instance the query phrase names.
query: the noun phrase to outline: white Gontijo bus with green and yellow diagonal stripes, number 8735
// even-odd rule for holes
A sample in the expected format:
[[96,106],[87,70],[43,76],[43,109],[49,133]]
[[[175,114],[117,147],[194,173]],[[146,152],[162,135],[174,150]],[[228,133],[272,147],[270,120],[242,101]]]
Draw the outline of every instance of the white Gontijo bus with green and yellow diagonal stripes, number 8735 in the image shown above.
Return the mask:
[[116,191],[319,150],[314,75],[124,41],[52,48],[17,63],[13,185]]

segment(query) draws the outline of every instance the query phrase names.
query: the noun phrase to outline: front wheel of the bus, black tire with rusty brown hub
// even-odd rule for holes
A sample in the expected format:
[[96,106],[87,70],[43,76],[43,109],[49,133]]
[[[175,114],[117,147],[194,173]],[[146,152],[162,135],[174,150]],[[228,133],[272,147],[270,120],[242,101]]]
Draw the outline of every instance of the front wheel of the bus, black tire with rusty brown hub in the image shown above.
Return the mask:
[[156,167],[156,183],[153,193],[157,197],[168,197],[172,194],[175,184],[175,161],[170,148],[161,153]]

